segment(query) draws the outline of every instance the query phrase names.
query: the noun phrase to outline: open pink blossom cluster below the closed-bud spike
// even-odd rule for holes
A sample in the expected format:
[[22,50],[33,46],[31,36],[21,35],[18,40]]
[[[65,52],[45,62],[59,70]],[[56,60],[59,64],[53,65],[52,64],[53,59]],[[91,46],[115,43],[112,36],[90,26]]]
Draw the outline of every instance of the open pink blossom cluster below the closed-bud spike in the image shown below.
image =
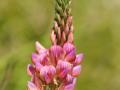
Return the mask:
[[32,77],[28,90],[74,90],[76,77],[81,71],[83,54],[76,55],[73,43],[52,45],[45,49],[36,42],[36,52],[27,68]]

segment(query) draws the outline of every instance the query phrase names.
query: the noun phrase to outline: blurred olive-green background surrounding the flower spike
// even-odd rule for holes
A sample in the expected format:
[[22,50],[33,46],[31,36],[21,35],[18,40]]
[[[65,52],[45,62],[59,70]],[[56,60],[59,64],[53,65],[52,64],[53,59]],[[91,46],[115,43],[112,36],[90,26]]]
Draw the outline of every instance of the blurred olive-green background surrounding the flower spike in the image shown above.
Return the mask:
[[[49,47],[55,0],[0,0],[0,90],[26,90],[34,42]],[[73,0],[84,52],[76,90],[120,90],[120,0]]]

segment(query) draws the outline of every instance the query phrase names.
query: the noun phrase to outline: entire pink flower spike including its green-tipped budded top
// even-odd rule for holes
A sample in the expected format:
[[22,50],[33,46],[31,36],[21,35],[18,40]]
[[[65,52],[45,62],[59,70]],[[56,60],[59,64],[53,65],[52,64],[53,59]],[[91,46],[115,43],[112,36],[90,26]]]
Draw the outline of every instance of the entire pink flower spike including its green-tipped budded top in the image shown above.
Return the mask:
[[76,55],[73,39],[71,0],[56,0],[52,46],[44,48],[36,42],[32,64],[27,67],[31,77],[28,90],[74,90],[81,72],[83,54]]

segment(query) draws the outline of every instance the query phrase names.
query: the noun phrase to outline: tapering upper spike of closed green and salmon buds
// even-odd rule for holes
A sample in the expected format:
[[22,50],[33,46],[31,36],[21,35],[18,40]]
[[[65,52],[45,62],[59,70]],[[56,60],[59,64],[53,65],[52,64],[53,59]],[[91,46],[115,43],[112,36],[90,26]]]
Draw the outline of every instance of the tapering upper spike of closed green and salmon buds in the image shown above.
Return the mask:
[[54,26],[51,30],[52,44],[73,43],[71,0],[56,0]]

